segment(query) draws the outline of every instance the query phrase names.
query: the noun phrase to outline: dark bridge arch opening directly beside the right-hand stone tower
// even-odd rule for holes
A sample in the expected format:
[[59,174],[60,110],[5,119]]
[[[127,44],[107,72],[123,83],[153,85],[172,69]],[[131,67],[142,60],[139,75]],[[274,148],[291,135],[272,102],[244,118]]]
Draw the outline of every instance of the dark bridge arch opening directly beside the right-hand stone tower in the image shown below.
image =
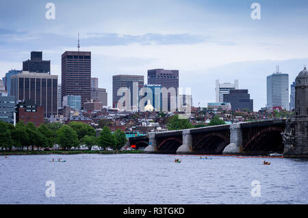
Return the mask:
[[281,133],[285,131],[282,126],[270,126],[264,128],[251,137],[244,145],[244,152],[259,152],[268,154],[268,152],[283,152],[283,139]]

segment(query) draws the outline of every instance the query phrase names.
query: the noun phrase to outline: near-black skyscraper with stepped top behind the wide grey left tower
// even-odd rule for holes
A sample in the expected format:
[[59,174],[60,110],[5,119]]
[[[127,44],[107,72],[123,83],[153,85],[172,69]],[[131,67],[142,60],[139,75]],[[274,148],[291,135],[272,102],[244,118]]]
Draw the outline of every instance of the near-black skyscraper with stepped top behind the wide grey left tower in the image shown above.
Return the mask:
[[23,71],[50,74],[50,61],[42,60],[42,51],[31,51],[31,59],[23,62]]

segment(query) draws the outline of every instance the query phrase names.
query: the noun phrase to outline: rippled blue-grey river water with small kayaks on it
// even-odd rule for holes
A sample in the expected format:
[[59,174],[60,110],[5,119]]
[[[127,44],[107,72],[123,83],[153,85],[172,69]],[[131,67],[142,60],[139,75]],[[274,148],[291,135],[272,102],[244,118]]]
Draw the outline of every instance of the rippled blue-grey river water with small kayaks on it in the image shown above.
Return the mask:
[[[49,162],[59,158],[66,162]],[[174,163],[176,158],[181,163]],[[0,204],[308,203],[307,159],[198,158],[168,154],[0,156]],[[263,165],[264,160],[272,164]],[[54,182],[54,189],[46,186],[47,181]],[[47,197],[51,189],[55,197]]]

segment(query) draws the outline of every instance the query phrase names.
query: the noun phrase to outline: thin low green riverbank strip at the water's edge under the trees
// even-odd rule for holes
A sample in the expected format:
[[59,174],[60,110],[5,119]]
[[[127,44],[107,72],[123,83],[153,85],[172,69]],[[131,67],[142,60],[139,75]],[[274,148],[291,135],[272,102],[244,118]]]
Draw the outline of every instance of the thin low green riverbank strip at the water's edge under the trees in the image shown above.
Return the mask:
[[142,154],[143,150],[50,150],[50,151],[0,151],[0,155],[29,154]]

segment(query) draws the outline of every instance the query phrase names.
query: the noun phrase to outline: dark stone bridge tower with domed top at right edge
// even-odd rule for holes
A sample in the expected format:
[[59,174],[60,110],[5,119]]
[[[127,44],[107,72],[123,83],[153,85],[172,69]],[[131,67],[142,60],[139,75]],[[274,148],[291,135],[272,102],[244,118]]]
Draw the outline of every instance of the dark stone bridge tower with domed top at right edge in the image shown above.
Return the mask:
[[305,67],[296,77],[295,115],[287,118],[281,133],[286,157],[308,156],[308,71]]

